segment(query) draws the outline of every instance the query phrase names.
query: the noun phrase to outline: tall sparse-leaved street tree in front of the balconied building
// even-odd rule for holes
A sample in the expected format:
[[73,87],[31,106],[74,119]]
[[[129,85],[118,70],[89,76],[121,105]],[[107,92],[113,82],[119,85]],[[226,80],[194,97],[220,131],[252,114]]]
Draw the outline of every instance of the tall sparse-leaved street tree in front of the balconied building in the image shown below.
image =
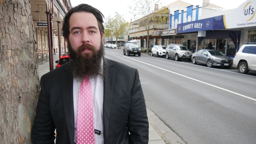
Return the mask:
[[133,2],[129,4],[130,13],[133,15],[134,20],[136,20],[136,25],[147,31],[147,53],[150,29],[152,29],[154,25],[165,23],[169,16],[168,8],[162,7],[158,9],[161,5],[162,3],[160,0],[133,0]]

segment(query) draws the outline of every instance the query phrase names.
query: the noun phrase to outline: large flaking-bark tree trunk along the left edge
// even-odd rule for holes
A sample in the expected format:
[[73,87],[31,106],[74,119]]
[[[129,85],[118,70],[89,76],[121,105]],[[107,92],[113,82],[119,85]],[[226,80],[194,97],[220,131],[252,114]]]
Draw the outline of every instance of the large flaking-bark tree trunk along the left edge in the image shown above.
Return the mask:
[[39,95],[29,0],[0,0],[0,143],[30,144]]

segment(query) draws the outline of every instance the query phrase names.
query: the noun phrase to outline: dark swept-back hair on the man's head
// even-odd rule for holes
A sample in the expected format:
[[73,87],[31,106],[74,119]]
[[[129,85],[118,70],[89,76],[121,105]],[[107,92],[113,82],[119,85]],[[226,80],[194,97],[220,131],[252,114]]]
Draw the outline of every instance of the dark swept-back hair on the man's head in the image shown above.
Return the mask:
[[97,21],[99,26],[100,35],[104,33],[104,26],[103,26],[103,18],[104,15],[96,8],[88,5],[88,4],[79,4],[76,7],[72,7],[66,14],[66,16],[63,19],[63,25],[62,25],[62,31],[63,31],[63,37],[69,38],[69,18],[74,12],[89,12],[92,13]]

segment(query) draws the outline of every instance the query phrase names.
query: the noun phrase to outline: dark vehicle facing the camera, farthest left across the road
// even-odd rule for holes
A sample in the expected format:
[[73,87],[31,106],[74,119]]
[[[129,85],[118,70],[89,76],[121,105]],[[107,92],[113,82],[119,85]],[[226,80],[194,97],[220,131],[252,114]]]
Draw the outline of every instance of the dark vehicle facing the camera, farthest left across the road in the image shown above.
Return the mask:
[[133,55],[138,54],[138,56],[140,56],[140,52],[141,52],[141,49],[136,43],[126,43],[124,45],[124,50],[123,50],[124,55],[127,53],[128,56],[130,56],[130,54],[133,54]]

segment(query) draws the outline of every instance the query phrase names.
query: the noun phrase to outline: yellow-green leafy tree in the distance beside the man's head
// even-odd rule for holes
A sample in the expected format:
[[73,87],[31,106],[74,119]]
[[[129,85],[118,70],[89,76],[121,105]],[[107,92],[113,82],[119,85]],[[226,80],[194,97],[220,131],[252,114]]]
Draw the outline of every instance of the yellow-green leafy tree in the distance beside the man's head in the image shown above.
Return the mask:
[[108,16],[105,22],[105,37],[116,37],[116,45],[118,38],[124,36],[127,32],[128,22],[124,19],[123,15],[118,14],[115,12],[113,17]]

